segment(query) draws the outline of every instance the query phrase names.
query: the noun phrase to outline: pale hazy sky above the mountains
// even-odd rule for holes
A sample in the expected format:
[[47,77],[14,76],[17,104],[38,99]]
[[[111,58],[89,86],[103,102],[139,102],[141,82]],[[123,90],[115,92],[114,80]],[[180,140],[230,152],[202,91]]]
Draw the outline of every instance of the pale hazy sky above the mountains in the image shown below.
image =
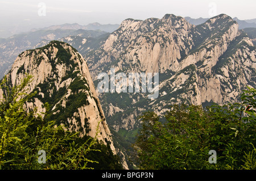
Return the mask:
[[119,24],[127,18],[162,18],[165,14],[209,18],[224,13],[254,19],[255,5],[255,0],[0,0],[0,31],[63,23]]

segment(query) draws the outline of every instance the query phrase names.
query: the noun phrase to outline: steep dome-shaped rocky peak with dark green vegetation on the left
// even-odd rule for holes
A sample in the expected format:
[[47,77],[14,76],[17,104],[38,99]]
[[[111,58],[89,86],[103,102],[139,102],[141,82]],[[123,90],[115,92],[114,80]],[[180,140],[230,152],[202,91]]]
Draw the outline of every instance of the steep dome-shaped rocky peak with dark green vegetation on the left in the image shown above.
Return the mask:
[[28,109],[38,107],[39,113],[48,102],[51,105],[48,119],[67,125],[71,131],[79,131],[80,136],[96,136],[97,124],[102,120],[98,139],[105,144],[109,142],[115,153],[88,66],[76,49],[51,41],[45,47],[26,50],[16,58],[7,78],[10,85],[16,85],[26,74],[33,75],[27,93],[38,92],[34,100],[26,103]]

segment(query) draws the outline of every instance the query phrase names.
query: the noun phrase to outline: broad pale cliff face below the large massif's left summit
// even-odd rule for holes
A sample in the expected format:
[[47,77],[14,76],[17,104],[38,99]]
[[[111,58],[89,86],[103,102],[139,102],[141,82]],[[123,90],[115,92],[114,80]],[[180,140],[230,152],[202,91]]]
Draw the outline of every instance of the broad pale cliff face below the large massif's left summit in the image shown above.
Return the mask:
[[[124,20],[102,45],[104,53],[100,54],[100,60],[94,61],[95,57],[87,59],[90,70],[96,69],[98,73],[100,70],[97,68],[102,63],[113,60],[118,60],[119,69],[130,65],[131,71],[163,73],[167,69],[175,70],[181,59],[181,49],[188,53],[193,45],[189,32],[195,28],[185,19],[175,18],[174,15],[166,15],[162,19]],[[95,78],[96,74],[92,77]]]

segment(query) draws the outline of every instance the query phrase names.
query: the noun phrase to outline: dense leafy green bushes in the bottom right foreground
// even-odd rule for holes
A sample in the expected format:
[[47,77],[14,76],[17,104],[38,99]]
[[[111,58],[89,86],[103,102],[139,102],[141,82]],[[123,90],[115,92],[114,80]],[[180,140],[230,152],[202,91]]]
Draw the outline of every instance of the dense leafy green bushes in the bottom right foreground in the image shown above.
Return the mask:
[[[134,144],[139,167],[256,169],[256,90],[244,90],[241,100],[207,110],[174,105],[164,121],[145,112]],[[216,150],[217,163],[209,163],[210,150]]]

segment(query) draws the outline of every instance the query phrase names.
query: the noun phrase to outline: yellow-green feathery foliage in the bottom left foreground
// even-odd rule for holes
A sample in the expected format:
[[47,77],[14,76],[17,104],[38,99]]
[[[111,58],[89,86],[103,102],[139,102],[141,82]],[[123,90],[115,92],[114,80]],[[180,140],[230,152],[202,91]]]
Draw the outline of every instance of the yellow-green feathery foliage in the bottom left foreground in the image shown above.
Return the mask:
[[[24,93],[30,81],[28,75],[11,89],[6,78],[1,82],[6,95],[0,102],[0,169],[122,169],[110,146],[97,137],[80,138],[78,132],[46,121],[48,103],[44,116],[36,108],[25,110],[24,103],[36,94]],[[39,150],[46,151],[46,163],[39,163]]]

